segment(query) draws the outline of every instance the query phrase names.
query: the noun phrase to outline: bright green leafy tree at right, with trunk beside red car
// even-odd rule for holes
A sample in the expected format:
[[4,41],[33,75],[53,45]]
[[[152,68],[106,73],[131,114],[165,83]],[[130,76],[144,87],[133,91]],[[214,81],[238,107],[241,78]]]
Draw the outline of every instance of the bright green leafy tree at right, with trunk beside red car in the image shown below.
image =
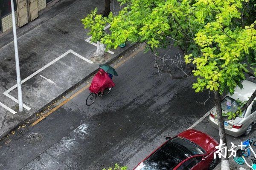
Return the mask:
[[[227,92],[233,94],[236,86],[242,88],[241,81],[245,79],[244,73],[248,72],[244,61],[253,65],[256,59],[252,55],[256,51],[256,21],[250,23],[241,17],[242,12],[248,13],[244,11],[247,3],[246,0],[198,0],[193,4],[198,9],[204,9],[204,15],[198,17],[199,22],[212,19],[195,34],[194,40],[201,48],[201,55],[185,56],[187,63],[192,62],[196,66],[193,70],[193,74],[198,77],[198,82],[193,84],[195,92],[204,89],[214,92],[219,135],[226,144],[224,120],[236,118],[256,97],[254,92],[239,111],[223,115],[221,95]],[[222,170],[229,169],[227,158],[222,158],[221,166]]]

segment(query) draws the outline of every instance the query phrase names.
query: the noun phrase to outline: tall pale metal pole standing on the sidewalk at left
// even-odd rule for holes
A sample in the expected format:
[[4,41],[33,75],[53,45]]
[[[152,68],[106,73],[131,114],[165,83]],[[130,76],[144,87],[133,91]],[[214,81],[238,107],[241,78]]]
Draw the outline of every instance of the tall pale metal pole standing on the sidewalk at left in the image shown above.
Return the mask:
[[23,102],[22,102],[21,82],[20,82],[20,63],[19,63],[19,54],[18,54],[16,23],[15,23],[13,0],[11,0],[11,5],[12,5],[12,28],[13,28],[14,50],[15,50],[15,63],[16,63],[16,74],[17,74],[17,89],[18,89],[19,110],[20,110],[20,112],[22,112],[23,111]]

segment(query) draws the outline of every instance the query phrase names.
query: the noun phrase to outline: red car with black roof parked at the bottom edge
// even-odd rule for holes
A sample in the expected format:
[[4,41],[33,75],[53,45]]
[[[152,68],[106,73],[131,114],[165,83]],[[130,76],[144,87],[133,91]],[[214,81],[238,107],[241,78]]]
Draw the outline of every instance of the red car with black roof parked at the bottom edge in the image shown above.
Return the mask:
[[134,170],[212,170],[218,142],[198,130],[186,130],[158,147]]

